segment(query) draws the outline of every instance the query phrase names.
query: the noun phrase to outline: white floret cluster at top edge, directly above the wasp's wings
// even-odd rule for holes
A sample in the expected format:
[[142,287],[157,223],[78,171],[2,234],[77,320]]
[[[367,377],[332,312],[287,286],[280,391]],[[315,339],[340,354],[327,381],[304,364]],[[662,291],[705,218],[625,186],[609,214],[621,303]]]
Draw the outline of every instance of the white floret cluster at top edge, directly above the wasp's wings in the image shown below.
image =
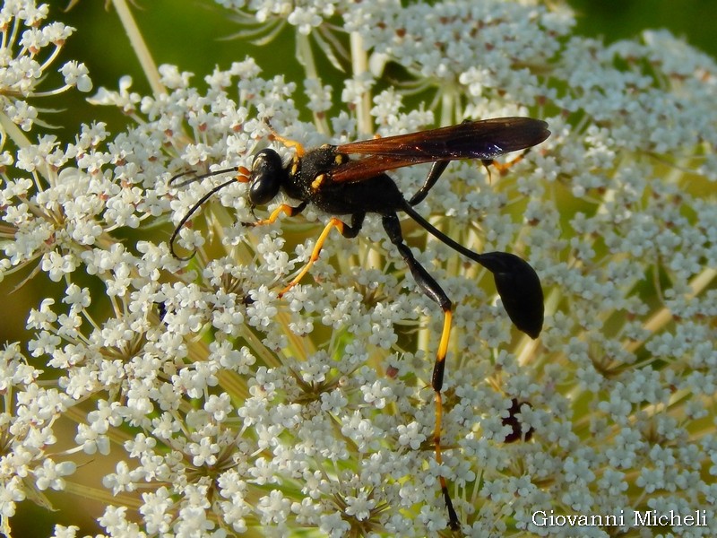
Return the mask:
[[[529,3],[530,4],[530,3]],[[366,46],[392,58],[424,83],[460,82],[472,96],[483,89],[508,92],[539,86],[531,66],[545,65],[573,25],[569,13],[513,2],[359,2],[345,14],[346,29]]]

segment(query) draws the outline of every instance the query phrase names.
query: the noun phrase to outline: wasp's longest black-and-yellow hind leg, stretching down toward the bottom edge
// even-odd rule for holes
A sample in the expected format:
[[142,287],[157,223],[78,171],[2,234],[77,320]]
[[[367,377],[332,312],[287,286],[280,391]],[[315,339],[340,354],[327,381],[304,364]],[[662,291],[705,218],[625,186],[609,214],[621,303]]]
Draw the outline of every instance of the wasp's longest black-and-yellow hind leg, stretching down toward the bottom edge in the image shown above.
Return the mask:
[[[441,456],[441,425],[443,422],[443,397],[441,395],[441,388],[443,387],[443,376],[445,371],[445,355],[448,351],[448,339],[451,335],[451,319],[453,317],[453,304],[451,299],[445,294],[445,291],[441,289],[438,282],[426,271],[423,265],[420,265],[418,260],[413,256],[410,251],[410,247],[403,242],[403,235],[401,232],[401,224],[398,220],[398,216],[395,213],[389,213],[384,215],[384,230],[388,234],[389,239],[393,245],[398,248],[399,253],[406,265],[409,266],[410,273],[413,275],[414,280],[419,285],[420,291],[428,296],[429,299],[435,301],[440,305],[444,314],[443,332],[441,333],[441,341],[438,343],[438,351],[436,351],[436,363],[433,367],[433,377],[431,377],[431,386],[435,393],[436,402],[436,425],[433,430],[433,443],[436,449],[436,464],[439,466],[443,464],[443,456]],[[443,476],[438,477],[438,481],[441,484],[441,492],[445,499],[445,508],[448,509],[448,525],[453,530],[458,530],[461,526],[458,521],[458,516],[455,513],[451,496],[448,493],[448,486]]]

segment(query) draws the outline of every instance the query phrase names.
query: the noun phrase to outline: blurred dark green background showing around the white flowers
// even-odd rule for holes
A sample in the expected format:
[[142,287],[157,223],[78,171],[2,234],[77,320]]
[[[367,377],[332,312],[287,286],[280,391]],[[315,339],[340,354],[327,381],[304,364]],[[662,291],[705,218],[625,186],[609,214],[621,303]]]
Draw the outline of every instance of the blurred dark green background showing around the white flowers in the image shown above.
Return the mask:
[[[134,17],[156,64],[174,64],[181,71],[193,72],[194,82],[200,87],[203,86],[203,75],[211,73],[215,65],[226,68],[232,61],[242,60],[247,55],[256,58],[265,77],[286,74],[290,80],[303,79],[303,72],[293,53],[294,40],[290,31],[284,31],[280,39],[269,45],[256,47],[244,40],[223,39],[237,33],[239,27],[230,20],[225,10],[210,0],[135,0],[135,3]],[[77,29],[60,59],[62,62],[76,59],[88,66],[95,86],[91,93],[100,86],[117,89],[119,78],[125,74],[134,77],[132,91],[149,93],[149,85],[143,78],[139,62],[112,6],[106,9],[104,2],[83,0],[65,12],[65,2],[51,1],[49,4],[48,20],[65,22]],[[717,57],[717,34],[713,27],[713,17],[717,13],[715,0],[571,0],[568,4],[578,15],[576,34],[602,37],[612,42],[635,37],[645,29],[665,28],[696,48]],[[341,76],[321,55],[317,55],[317,59],[327,80]],[[42,88],[61,84],[58,77],[48,76]],[[80,124],[92,121],[107,122],[113,132],[119,132],[127,125],[127,118],[116,109],[92,107],[84,101],[86,97],[70,91],[54,101],[33,102],[41,108],[56,108],[60,111],[42,114],[44,120],[58,128],[40,129],[31,135],[31,140],[36,140],[42,131],[55,134],[62,141],[72,141]],[[301,106],[303,96],[300,91],[296,98]],[[13,274],[0,282],[0,297],[5,299],[0,343],[26,341],[28,334],[24,325],[29,309],[37,308],[39,301],[48,296],[62,296],[63,286],[49,282],[42,274],[36,276],[29,285],[13,291],[29,273],[28,270]],[[91,282],[85,285],[91,285]],[[53,502],[59,500],[52,493],[48,497]],[[64,497],[67,499],[68,496]],[[55,513],[38,508],[29,501],[22,503],[17,516],[13,517],[14,535],[48,536],[52,534],[52,525],[55,523],[77,524],[78,512],[91,512],[82,509],[65,510],[62,501],[59,503],[56,508],[60,509]],[[74,508],[77,506],[82,506],[82,503]],[[83,532],[98,531],[92,527],[91,520],[85,521],[84,525],[87,526],[82,529]]]

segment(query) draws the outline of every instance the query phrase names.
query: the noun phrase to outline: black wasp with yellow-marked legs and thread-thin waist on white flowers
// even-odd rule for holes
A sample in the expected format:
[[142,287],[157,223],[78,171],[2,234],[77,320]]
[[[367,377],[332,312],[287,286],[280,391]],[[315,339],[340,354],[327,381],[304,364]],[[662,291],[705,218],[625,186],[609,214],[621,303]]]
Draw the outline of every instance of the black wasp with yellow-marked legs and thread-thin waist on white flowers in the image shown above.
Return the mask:
[[[436,462],[442,463],[441,456],[441,422],[443,417],[443,400],[441,387],[445,369],[445,355],[451,332],[453,304],[436,280],[419,264],[403,242],[401,224],[397,213],[407,213],[411,219],[431,235],[443,241],[449,247],[469,259],[483,265],[493,273],[497,292],[503,302],[505,311],[514,325],[532,338],[537,338],[543,324],[543,292],[540,279],[522,258],[507,252],[488,252],[479,254],[449,238],[413,209],[428,195],[428,191],[436,184],[450,161],[478,159],[488,167],[493,159],[508,152],[528,149],[548,138],[548,124],[530,117],[499,117],[479,121],[464,121],[455,126],[420,131],[412,134],[400,134],[385,138],[376,138],[360,142],[340,145],[324,144],[319,148],[305,150],[295,141],[273,134],[272,138],[288,147],[295,149],[295,155],[289,164],[281,162],[279,153],[272,149],[257,152],[251,169],[237,167],[220,169],[200,176],[195,176],[177,184],[184,186],[192,181],[233,172],[235,177],[214,187],[204,195],[179,221],[174,230],[169,246],[172,255],[174,241],[179,230],[192,214],[215,192],[227,187],[233,181],[249,183],[249,202],[252,209],[256,205],[268,204],[281,190],[289,198],[299,201],[297,206],[281,204],[262,221],[253,226],[272,223],[281,213],[289,216],[301,213],[308,204],[314,204],[320,210],[332,215],[324,231],[316,240],[314,250],[307,265],[281,291],[283,295],[296,285],[318,258],[324,241],[332,228],[336,228],[345,238],[355,238],[361,230],[367,213],[381,215],[384,230],[389,239],[398,249],[408,265],[419,288],[429,299],[435,301],[443,310],[444,325],[441,333],[436,362],[433,369],[431,386],[435,392],[436,425],[434,429],[434,446]],[[350,154],[362,157],[350,159]],[[392,178],[385,172],[419,163],[432,162],[428,177],[418,192],[409,200],[403,197]],[[186,173],[170,179],[170,183],[183,178]],[[350,215],[347,224],[337,215]],[[439,477],[441,491],[448,510],[448,521],[452,529],[460,527],[458,516],[448,493],[445,478]]]

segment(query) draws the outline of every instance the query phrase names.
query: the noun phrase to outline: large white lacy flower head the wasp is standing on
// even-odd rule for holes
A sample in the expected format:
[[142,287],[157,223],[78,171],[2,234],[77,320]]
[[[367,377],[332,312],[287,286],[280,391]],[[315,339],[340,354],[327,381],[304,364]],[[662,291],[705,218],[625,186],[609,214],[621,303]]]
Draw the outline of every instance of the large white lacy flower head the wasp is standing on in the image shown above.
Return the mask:
[[[221,4],[257,18],[270,9]],[[323,18],[338,6],[319,4],[272,3],[272,15],[295,24],[299,7]],[[64,283],[61,298],[30,310],[33,336],[0,353],[3,525],[22,500],[65,489],[77,464],[98,464],[114,468],[91,484],[115,496],[97,515],[106,536],[436,535],[448,524],[439,477],[466,535],[574,534],[532,516],[623,509],[705,510],[708,525],[670,532],[715,534],[717,65],[666,33],[610,48],[568,39],[567,13],[530,2],[359,2],[341,13],[372,53],[460,95],[444,106],[549,122],[549,140],[505,173],[452,164],[417,206],[474,250],[530,261],[545,292],[540,338],[512,328],[488,273],[402,222],[455,305],[436,464],[440,308],[378,219],[359,239],[326,241],[281,299],[324,219],[311,208],[247,227],[291,202],[252,208],[237,182],[180,231],[191,261],[168,247],[217,183],[169,178],[249,167],[267,145],[288,161],[272,129],[307,147],[353,139],[355,108],[327,117],[332,138],[300,121],[293,96],[305,91],[328,115],[371,82],[299,90],[263,79],[250,58],[206,76],[206,91],[168,65],[166,94],[140,95],[123,78],[92,102],[136,125],[82,126],[73,143],[43,136],[0,169],[0,274]],[[307,17],[298,31],[321,23]],[[7,115],[15,101],[0,102]],[[399,90],[371,102],[382,134],[432,121],[431,110],[404,110]],[[394,175],[411,195],[425,174]],[[77,427],[64,438],[73,447],[54,453],[61,417]],[[58,525],[56,536],[75,530]],[[618,532],[628,529],[580,529]]]

